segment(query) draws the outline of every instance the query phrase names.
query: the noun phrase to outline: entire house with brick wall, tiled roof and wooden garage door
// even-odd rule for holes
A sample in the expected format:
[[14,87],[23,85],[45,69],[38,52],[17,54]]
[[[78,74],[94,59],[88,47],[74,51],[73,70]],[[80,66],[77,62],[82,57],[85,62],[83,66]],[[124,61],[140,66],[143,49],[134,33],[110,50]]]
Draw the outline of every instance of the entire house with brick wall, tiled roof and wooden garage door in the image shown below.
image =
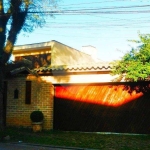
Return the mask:
[[39,109],[44,129],[149,132],[149,121],[138,125],[150,115],[140,113],[143,93],[137,83],[113,82],[110,63],[57,41],[16,46],[13,55],[30,65],[13,68],[5,80],[7,126],[31,127],[30,113]]

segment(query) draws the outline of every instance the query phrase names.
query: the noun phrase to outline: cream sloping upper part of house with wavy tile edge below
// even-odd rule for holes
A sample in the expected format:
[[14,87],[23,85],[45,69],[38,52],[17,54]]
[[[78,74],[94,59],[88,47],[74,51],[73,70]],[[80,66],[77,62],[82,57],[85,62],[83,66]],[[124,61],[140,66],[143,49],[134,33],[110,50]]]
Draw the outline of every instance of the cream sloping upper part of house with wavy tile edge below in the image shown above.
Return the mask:
[[16,46],[14,48],[14,51],[17,50],[22,52],[23,49],[25,49],[26,51],[36,51],[36,49],[44,49],[45,47],[49,47],[51,50],[51,65],[34,69],[34,71],[37,73],[53,71],[88,72],[111,70],[111,65],[109,62],[95,60],[89,54],[86,54],[54,40],[44,43]]

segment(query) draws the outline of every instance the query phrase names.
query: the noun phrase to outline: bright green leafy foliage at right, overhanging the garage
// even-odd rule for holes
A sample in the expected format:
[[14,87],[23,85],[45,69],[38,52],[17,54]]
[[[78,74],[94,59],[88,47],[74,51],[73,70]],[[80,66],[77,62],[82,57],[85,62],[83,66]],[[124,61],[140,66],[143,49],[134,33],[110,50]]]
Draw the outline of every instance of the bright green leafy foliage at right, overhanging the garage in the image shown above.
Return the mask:
[[148,80],[150,75],[150,34],[139,34],[140,44],[127,52],[121,60],[112,63],[112,74],[126,81]]

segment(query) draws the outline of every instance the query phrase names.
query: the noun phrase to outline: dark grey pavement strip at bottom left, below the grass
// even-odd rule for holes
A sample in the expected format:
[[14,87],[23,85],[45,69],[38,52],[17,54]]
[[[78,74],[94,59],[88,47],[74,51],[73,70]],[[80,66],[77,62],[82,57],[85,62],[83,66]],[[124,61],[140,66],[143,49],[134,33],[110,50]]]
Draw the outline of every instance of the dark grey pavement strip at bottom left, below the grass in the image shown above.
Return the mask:
[[0,150],[88,150],[83,148],[63,148],[53,146],[31,145],[26,143],[0,143]]

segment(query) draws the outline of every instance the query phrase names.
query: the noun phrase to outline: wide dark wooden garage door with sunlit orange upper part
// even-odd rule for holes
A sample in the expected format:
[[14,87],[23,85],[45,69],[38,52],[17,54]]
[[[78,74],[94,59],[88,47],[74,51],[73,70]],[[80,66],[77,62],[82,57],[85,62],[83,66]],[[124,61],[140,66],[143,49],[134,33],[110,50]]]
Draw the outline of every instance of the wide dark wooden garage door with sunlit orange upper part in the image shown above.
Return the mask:
[[149,95],[128,85],[57,85],[54,129],[149,133],[149,106]]

